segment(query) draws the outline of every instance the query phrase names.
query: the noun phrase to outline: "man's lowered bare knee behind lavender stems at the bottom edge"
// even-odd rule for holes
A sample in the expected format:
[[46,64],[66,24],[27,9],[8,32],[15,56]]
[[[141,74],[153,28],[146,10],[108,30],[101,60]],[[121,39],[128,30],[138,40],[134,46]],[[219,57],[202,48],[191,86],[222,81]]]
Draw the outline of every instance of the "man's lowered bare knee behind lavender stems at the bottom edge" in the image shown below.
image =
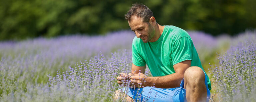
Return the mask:
[[[124,92],[122,92],[121,90],[117,90],[115,92],[115,95],[114,95],[114,102],[117,102],[120,99],[123,99],[123,97],[125,97],[125,95],[126,94]],[[126,95],[126,99],[125,100],[126,100],[126,102],[133,102],[133,99],[130,96],[128,96],[128,95]]]

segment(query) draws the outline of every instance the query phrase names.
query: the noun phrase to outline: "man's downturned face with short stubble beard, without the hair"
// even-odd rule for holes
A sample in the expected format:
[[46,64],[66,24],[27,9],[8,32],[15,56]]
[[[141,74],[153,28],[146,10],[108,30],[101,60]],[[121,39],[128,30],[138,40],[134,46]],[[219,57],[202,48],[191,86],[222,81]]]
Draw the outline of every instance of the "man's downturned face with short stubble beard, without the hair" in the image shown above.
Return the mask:
[[137,38],[140,38],[144,43],[149,42],[154,37],[154,27],[149,23],[143,22],[141,17],[133,16],[128,23]]

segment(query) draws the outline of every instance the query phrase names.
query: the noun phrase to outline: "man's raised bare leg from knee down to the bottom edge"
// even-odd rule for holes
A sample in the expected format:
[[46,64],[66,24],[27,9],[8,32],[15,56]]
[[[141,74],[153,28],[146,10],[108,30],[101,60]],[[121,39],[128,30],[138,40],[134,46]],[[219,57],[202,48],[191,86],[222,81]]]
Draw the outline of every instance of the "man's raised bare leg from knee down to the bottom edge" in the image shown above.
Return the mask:
[[185,71],[184,88],[188,102],[206,102],[205,74],[200,67],[192,66]]

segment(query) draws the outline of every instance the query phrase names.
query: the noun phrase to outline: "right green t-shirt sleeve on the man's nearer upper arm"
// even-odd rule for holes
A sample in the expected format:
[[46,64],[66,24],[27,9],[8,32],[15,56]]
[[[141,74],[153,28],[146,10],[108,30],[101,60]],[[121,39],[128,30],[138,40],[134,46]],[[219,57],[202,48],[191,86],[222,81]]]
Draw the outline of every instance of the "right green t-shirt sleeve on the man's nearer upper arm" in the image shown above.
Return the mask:
[[172,45],[172,62],[173,65],[184,60],[192,60],[192,41],[188,37],[181,37]]

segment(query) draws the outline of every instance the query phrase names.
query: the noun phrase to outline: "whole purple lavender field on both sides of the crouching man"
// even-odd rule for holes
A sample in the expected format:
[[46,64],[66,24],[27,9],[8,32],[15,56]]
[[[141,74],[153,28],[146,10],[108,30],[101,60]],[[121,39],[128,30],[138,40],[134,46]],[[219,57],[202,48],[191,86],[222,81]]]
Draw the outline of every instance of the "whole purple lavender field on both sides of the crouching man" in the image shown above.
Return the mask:
[[[211,100],[256,101],[256,32],[188,33],[212,81]],[[0,42],[0,101],[113,101],[114,92],[124,87],[116,77],[131,69],[134,37],[119,31]],[[151,76],[148,69],[146,75]]]

